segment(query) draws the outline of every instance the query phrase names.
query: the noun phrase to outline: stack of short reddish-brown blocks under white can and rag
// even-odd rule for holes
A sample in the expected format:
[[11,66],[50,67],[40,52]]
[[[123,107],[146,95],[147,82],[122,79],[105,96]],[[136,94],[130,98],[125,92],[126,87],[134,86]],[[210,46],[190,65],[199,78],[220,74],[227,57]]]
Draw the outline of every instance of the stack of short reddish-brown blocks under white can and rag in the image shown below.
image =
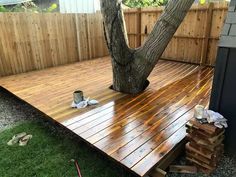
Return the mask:
[[224,129],[213,124],[201,124],[191,119],[187,125],[186,158],[198,171],[211,174],[217,167],[224,152]]

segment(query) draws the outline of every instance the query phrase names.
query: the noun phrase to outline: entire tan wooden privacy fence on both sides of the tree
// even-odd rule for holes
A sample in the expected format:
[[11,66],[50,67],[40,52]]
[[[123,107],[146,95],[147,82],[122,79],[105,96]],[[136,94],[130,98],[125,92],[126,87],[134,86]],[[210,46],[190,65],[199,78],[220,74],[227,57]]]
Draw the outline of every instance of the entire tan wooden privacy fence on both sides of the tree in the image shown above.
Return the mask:
[[[125,11],[130,46],[138,47],[163,8]],[[227,4],[193,6],[162,58],[214,65]],[[0,14],[0,76],[108,55],[96,14]]]

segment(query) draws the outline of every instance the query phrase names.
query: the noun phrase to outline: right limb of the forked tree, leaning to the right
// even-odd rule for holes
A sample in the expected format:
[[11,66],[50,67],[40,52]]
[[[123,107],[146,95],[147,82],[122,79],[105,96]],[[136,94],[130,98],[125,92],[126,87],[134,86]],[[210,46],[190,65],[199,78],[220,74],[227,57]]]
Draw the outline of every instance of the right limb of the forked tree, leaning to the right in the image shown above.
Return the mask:
[[144,77],[155,67],[193,2],[194,0],[170,0],[144,45],[135,52],[135,58],[146,61],[146,64],[136,61],[136,65],[142,63],[140,72],[144,73]]

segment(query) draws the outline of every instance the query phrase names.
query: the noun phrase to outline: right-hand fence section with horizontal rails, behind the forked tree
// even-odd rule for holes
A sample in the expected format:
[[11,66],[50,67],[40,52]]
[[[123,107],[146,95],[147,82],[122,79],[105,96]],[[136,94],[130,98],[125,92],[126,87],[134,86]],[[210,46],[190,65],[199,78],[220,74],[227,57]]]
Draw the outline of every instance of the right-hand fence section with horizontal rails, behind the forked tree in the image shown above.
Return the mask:
[[[169,43],[162,58],[214,65],[227,3],[194,5]],[[138,47],[151,32],[163,8],[130,9],[125,13],[130,46]]]

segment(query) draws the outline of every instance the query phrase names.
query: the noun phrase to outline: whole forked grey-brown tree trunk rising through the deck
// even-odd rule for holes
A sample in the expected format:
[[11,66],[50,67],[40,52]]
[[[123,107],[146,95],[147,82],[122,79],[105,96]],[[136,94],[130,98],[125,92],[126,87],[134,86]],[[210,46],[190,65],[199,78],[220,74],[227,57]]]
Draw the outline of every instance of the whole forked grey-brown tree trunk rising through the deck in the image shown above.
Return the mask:
[[101,0],[104,32],[112,58],[113,89],[136,94],[155,67],[194,0],[170,0],[143,46],[131,49],[120,0]]

